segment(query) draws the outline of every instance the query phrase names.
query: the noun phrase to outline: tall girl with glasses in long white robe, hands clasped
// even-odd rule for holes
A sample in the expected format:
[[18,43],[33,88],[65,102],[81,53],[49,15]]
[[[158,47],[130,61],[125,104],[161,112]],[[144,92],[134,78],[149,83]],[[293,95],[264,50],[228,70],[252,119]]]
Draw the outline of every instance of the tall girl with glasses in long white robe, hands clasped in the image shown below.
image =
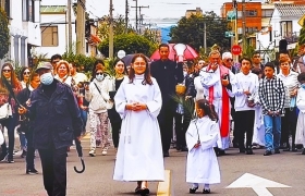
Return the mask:
[[147,181],[164,180],[157,121],[162,99],[145,56],[135,54],[130,72],[130,78],[122,82],[114,97],[122,126],[113,180],[135,181],[136,193],[145,195],[149,194]]

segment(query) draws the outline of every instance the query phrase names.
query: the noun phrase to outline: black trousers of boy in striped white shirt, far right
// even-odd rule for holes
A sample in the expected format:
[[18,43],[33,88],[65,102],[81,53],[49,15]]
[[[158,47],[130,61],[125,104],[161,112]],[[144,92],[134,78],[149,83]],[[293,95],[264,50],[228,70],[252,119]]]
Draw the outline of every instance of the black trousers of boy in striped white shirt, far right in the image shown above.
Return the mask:
[[286,144],[289,147],[289,135],[292,135],[292,145],[294,146],[296,131],[296,108],[290,110],[285,108],[285,114],[281,118],[281,144]]

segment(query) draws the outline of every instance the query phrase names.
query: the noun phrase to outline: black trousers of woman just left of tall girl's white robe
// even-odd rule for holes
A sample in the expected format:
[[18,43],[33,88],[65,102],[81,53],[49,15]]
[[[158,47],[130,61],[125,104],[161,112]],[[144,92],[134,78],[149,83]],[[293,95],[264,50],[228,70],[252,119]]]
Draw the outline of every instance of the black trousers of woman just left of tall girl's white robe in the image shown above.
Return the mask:
[[108,118],[110,120],[110,124],[112,128],[113,146],[114,148],[118,148],[122,119],[120,114],[115,111],[114,107],[108,110]]

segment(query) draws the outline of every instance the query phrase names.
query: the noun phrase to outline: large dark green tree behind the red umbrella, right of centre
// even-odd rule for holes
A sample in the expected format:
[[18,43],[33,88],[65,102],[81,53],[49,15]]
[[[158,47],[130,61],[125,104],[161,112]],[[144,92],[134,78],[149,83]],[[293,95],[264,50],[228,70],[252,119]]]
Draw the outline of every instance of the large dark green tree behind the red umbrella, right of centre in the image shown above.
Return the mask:
[[170,42],[187,44],[199,51],[204,47],[205,23],[207,48],[217,44],[222,49],[230,49],[230,38],[224,37],[224,33],[229,30],[229,22],[217,16],[212,11],[204,15],[193,14],[188,19],[182,17],[178,26],[173,26],[170,30]]

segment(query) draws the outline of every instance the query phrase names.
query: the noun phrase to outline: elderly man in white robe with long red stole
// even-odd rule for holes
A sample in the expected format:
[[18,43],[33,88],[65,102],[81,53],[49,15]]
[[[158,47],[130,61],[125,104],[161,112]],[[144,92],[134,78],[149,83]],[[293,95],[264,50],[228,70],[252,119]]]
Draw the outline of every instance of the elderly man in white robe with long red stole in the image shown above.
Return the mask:
[[232,86],[235,85],[234,74],[221,64],[220,53],[213,50],[209,53],[210,63],[203,69],[200,81],[207,89],[205,95],[209,102],[215,106],[219,118],[220,135],[222,144],[219,155],[224,155],[224,149],[230,145],[230,97],[233,97]]

